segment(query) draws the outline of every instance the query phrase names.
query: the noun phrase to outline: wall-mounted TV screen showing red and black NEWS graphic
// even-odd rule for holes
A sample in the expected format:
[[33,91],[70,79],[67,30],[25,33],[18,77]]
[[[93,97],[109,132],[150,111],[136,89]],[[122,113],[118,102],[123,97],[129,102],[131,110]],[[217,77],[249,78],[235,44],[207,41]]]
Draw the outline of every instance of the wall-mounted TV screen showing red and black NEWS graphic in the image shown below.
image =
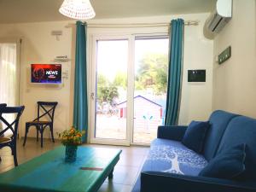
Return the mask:
[[61,64],[32,64],[31,82],[37,84],[61,84]]

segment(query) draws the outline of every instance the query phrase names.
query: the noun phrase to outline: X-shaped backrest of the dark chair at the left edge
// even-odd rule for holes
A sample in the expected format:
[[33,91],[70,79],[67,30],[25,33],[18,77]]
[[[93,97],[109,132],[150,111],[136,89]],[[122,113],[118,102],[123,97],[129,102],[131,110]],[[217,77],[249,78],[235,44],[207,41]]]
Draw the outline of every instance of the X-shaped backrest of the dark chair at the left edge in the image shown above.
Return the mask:
[[[0,121],[3,122],[3,131],[0,131],[0,135],[3,135],[5,131],[11,131],[13,133],[12,139],[16,141],[17,132],[18,132],[18,125],[20,116],[24,111],[24,106],[20,107],[1,107],[0,108]],[[9,122],[7,119],[3,117],[3,114],[7,113],[15,113],[15,120],[13,122]]]

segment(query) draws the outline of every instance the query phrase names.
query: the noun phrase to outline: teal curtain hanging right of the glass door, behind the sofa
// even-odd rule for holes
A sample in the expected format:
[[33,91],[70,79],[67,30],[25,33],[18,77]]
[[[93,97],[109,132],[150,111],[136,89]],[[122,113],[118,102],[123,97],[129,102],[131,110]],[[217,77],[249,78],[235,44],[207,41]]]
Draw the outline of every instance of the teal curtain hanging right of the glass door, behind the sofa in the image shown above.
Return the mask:
[[177,125],[183,68],[184,20],[171,22],[165,125]]

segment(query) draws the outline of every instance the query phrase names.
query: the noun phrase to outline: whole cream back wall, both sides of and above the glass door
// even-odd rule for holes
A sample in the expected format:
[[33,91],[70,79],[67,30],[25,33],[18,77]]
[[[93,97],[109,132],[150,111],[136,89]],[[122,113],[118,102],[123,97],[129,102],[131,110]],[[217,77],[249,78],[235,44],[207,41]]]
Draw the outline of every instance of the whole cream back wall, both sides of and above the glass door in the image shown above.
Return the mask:
[[[202,26],[208,14],[169,15],[148,18],[129,18],[116,20],[90,20],[89,23],[135,23],[135,22],[169,22],[181,17],[184,20],[199,20],[199,26],[185,26],[183,93],[179,123],[186,125],[192,119],[207,119],[212,111],[212,41],[203,37]],[[72,124],[73,115],[73,70],[74,70],[74,21],[55,21],[0,25],[0,38],[22,38],[20,58],[20,104],[26,106],[22,116],[20,135],[24,135],[25,122],[36,116],[36,102],[57,101],[59,106],[55,113],[55,131],[67,129]],[[69,26],[69,27],[68,27]],[[72,26],[72,27],[70,27]],[[51,36],[52,30],[61,30],[60,41]],[[144,32],[139,28],[125,28],[126,34]],[[150,32],[167,32],[167,27],[152,28]],[[94,34],[113,32],[113,29],[89,28],[89,57],[91,61],[91,37]],[[114,32],[124,32],[115,29]],[[52,63],[56,55],[67,55],[73,61],[62,63],[62,70],[69,74],[62,85],[30,84],[31,63]],[[90,62],[91,65],[91,62]],[[207,82],[189,84],[187,69],[207,69]],[[90,79],[91,80],[91,79]],[[90,82],[89,82],[90,83]],[[89,84],[91,86],[91,84]],[[89,89],[91,88],[89,86]],[[90,93],[90,90],[89,90]],[[30,132],[34,137],[35,132]],[[45,132],[49,136],[49,132]]]

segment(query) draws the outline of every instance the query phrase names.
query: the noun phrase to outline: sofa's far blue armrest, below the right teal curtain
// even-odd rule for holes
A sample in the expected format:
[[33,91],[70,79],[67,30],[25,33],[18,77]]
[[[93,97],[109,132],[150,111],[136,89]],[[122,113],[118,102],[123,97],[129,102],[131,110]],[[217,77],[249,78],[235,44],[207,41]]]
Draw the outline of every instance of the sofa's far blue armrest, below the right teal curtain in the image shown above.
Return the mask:
[[157,137],[181,141],[188,126],[159,126]]

